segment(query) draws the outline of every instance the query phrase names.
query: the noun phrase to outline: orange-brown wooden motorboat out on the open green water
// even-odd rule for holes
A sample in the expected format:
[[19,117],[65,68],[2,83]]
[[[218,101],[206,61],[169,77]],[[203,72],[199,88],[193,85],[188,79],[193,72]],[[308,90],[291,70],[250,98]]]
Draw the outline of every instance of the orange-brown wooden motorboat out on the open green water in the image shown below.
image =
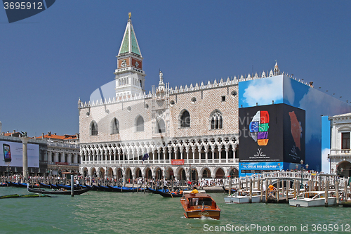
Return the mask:
[[199,193],[190,192],[184,191],[184,197],[180,198],[185,217],[194,219],[205,216],[212,219],[220,219],[220,208],[210,195],[201,190]]

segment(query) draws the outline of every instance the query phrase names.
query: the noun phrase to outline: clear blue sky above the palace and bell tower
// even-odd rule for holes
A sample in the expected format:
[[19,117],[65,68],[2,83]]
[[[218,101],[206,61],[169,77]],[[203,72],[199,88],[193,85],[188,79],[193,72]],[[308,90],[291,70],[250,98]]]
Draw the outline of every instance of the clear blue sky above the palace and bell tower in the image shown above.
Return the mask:
[[56,1],[9,24],[0,10],[2,131],[75,134],[77,101],[114,80],[128,12],[145,88],[263,72],[350,100],[351,1]]

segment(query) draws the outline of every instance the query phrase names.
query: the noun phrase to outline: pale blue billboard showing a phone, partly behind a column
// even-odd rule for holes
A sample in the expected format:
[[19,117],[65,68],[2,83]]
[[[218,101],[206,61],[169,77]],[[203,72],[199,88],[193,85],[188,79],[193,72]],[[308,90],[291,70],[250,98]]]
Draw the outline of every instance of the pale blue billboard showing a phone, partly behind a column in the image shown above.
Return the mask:
[[[22,167],[22,143],[0,141],[0,166]],[[39,145],[27,144],[28,167],[39,167]]]

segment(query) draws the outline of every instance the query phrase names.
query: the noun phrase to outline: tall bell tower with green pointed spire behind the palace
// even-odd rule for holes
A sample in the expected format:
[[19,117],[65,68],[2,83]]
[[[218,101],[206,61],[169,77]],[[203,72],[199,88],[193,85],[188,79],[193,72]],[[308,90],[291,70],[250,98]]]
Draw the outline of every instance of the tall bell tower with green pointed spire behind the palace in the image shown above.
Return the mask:
[[143,57],[140,53],[138,40],[135,37],[131,22],[131,13],[117,56],[116,97],[144,93],[145,72],[143,71]]

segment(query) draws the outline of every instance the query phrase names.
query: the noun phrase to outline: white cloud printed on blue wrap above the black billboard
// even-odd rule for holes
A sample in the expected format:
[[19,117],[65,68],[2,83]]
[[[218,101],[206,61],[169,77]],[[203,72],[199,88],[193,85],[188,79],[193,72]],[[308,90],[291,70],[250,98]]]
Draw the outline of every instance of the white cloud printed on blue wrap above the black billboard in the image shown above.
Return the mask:
[[[277,79],[279,78],[279,79]],[[245,89],[243,97],[244,102],[250,106],[258,105],[269,105],[276,100],[283,98],[283,79],[277,78],[266,78],[257,79]]]

